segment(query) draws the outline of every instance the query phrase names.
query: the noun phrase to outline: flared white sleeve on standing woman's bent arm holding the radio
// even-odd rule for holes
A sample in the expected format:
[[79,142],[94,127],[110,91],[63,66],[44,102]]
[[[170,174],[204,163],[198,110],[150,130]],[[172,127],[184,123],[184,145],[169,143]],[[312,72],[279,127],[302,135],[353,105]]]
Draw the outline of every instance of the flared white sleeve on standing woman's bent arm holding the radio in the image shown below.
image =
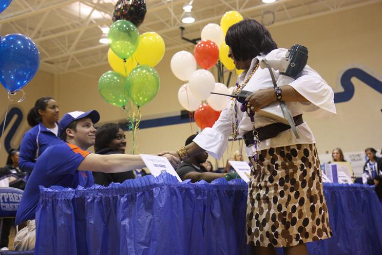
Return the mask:
[[309,101],[300,102],[304,112],[314,112],[319,118],[330,118],[336,114],[333,89],[310,66],[306,65],[301,76],[289,85]]

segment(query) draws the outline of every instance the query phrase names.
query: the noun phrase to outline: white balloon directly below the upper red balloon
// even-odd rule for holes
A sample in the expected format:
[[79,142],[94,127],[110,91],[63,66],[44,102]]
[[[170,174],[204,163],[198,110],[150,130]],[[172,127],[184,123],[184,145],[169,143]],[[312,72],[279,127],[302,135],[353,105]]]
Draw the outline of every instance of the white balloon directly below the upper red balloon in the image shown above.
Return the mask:
[[215,78],[210,71],[199,69],[193,72],[188,81],[189,90],[199,100],[206,100],[215,88]]

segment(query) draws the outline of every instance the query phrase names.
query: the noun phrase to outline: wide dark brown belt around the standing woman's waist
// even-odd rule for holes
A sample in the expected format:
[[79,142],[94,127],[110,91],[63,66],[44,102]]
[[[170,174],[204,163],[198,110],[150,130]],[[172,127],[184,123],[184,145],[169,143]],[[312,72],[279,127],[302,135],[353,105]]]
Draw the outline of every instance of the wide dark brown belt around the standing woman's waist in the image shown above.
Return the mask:
[[[293,117],[293,121],[295,122],[296,126],[302,124],[304,122],[302,119],[302,114]],[[256,132],[259,136],[259,140],[262,141],[262,140],[275,137],[279,133],[285,130],[289,130],[290,128],[291,128],[290,125],[287,125],[281,122],[276,122],[266,126],[262,126],[261,128],[256,129]],[[252,146],[255,143],[252,131],[245,133],[243,135],[243,138],[244,138],[246,147]]]

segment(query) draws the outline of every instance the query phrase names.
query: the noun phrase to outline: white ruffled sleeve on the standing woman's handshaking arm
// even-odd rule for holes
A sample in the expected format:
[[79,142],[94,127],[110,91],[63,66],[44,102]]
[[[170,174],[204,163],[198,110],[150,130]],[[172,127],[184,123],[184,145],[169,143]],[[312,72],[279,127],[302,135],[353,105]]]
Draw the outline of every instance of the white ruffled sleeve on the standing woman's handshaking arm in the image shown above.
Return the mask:
[[[231,102],[231,101],[230,101]],[[228,104],[229,105],[229,104]],[[228,106],[220,113],[219,119],[212,128],[205,128],[194,142],[214,158],[221,158],[228,146],[231,135],[231,107]],[[239,119],[239,116],[238,116]],[[240,123],[240,120],[239,122]]]

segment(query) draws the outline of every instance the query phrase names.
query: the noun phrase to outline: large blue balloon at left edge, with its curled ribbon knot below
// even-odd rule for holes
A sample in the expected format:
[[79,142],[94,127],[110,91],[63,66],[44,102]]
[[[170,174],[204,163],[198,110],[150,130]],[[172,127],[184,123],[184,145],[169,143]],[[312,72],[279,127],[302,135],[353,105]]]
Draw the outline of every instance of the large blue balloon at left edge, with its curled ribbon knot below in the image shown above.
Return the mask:
[[40,66],[40,52],[23,34],[8,34],[0,41],[0,83],[8,90],[21,89]]

